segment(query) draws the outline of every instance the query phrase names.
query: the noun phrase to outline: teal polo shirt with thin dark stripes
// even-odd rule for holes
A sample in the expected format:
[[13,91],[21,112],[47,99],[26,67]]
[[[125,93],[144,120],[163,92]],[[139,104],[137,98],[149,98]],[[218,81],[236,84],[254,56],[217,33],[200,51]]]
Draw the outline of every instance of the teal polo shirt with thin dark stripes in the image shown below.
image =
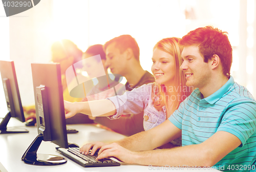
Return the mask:
[[237,136],[242,144],[215,167],[222,171],[256,171],[256,101],[232,76],[204,98],[196,89],[169,117],[182,130],[182,146],[199,144],[218,131]]

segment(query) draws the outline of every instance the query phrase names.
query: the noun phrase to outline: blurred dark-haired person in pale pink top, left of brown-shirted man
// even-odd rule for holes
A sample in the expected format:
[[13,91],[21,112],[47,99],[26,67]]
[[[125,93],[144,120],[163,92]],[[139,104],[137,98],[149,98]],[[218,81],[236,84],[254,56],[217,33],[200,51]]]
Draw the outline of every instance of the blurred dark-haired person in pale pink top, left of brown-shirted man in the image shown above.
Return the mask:
[[[115,96],[116,94],[112,89],[113,87],[115,87],[118,95],[122,95],[125,92],[124,85],[119,83],[120,76],[108,74],[108,66],[105,65],[105,61],[106,55],[103,46],[100,44],[90,46],[86,52],[83,53],[83,71],[88,73],[89,78],[96,82],[96,85],[94,85],[86,98],[82,101],[101,100]],[[101,67],[104,69],[104,72],[99,70]]]

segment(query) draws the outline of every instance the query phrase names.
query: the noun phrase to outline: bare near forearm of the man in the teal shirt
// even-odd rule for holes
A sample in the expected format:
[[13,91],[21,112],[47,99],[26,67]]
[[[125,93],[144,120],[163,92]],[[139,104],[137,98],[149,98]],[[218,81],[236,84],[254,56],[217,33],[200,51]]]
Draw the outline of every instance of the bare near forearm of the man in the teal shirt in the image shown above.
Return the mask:
[[200,144],[136,152],[134,163],[157,166],[213,166],[241,145],[238,137],[219,131]]

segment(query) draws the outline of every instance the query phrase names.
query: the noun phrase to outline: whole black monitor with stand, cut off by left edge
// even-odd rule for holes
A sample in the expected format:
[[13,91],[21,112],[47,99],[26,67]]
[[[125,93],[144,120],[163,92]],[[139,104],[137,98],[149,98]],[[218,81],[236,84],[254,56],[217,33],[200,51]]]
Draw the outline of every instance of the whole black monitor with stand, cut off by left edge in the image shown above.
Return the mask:
[[0,134],[28,133],[26,129],[8,127],[7,124],[11,117],[25,122],[22,101],[20,100],[18,82],[13,61],[0,60],[0,72],[2,76],[5,99],[8,113],[0,123]]

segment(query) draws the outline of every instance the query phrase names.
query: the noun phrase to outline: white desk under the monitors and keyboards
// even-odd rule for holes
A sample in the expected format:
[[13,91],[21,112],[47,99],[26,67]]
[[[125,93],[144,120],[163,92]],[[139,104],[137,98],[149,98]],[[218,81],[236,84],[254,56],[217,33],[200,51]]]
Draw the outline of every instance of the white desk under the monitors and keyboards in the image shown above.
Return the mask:
[[[90,167],[85,168],[80,166],[79,164],[73,162],[72,160],[68,159],[66,164],[56,165],[56,166],[36,166],[36,165],[29,165],[24,163],[21,158],[25,153],[25,150],[31,144],[31,142],[37,136],[37,129],[36,126],[25,126],[25,123],[19,122],[15,118],[11,118],[10,122],[8,123],[9,126],[19,126],[19,127],[26,127],[29,130],[29,133],[19,133],[19,134],[2,134],[0,135],[0,171],[2,172],[39,172],[39,171],[47,171],[47,172],[57,172],[57,171],[195,171],[195,169],[183,168],[183,170],[172,170],[172,168],[167,167],[148,167],[143,165],[136,165],[136,164],[126,164],[121,163],[121,166],[116,167]],[[94,142],[94,141],[102,141],[108,142],[113,140],[122,139],[125,136],[104,130],[103,128],[97,127],[93,124],[74,124],[69,125],[72,128],[75,128],[79,132],[76,134],[68,134],[68,141],[75,142],[79,146],[83,144]],[[60,155],[62,156],[57,150],[55,149],[56,145],[51,142],[44,142],[42,141],[37,153],[38,154],[52,154],[52,155]],[[203,171],[201,169],[200,171]],[[216,169],[204,170],[204,171],[218,171]]]

